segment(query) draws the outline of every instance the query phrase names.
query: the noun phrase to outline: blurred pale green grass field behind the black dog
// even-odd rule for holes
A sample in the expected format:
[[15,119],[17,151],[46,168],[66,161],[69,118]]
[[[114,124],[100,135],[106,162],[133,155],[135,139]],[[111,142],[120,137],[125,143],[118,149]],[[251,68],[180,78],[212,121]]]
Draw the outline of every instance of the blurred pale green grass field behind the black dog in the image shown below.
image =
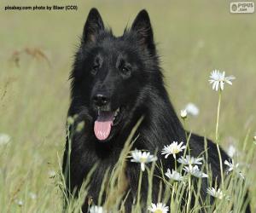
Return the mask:
[[[70,1],[71,2],[71,1]],[[65,142],[68,75],[84,21],[92,7],[120,35],[140,9],[148,9],[166,88],[179,112],[200,108],[188,129],[214,139],[218,94],[213,69],[236,76],[224,89],[221,143],[241,150],[256,132],[256,14],[230,14],[229,1],[72,1],[78,11],[4,11],[6,5],[66,5],[67,1],[1,1],[0,11],[0,212],[61,212],[54,177]],[[247,153],[241,153],[246,156]],[[256,211],[256,172],[250,193]]]

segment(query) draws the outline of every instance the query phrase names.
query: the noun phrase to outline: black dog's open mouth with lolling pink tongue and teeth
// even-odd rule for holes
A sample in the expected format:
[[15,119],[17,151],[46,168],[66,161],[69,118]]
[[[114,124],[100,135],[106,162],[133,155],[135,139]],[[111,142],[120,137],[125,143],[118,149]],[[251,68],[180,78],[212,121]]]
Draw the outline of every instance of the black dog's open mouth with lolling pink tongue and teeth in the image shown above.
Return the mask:
[[94,133],[99,141],[105,141],[110,135],[112,127],[119,124],[120,114],[120,107],[115,111],[98,110]]

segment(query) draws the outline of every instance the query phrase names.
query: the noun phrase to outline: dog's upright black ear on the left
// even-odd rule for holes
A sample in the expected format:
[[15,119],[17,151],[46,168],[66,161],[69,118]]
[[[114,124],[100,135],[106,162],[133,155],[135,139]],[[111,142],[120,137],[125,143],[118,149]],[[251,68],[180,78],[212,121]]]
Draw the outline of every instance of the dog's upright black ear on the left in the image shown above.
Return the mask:
[[95,42],[99,32],[104,30],[101,14],[97,9],[90,9],[84,25],[83,42]]

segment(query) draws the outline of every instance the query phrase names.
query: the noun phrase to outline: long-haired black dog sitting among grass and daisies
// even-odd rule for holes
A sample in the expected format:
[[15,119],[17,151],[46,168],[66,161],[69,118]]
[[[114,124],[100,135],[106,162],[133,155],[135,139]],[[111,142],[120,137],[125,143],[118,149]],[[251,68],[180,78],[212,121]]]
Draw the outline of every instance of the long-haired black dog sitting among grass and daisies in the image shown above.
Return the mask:
[[[70,166],[67,166],[68,143],[63,158],[67,189],[79,189],[94,164],[99,163],[90,181],[89,195],[96,202],[103,176],[113,169],[131,129],[143,116],[139,137],[133,148],[154,153],[172,141],[186,141],[185,130],[168,98],[155,49],[153,31],[146,10],[137,14],[131,29],[120,37],[104,27],[101,15],[91,9],[84,25],[81,45],[71,73],[71,106],[68,116],[84,120],[84,130],[73,135]],[[204,152],[204,138],[191,135],[190,154],[198,157]],[[207,142],[208,164],[213,180],[219,181],[218,152],[212,141]],[[160,153],[160,152],[159,152]],[[221,150],[222,159],[228,156]],[[174,162],[160,154],[163,167],[172,169]],[[70,168],[69,172],[67,172]],[[127,162],[127,191],[125,208],[131,211],[137,194],[140,165]],[[157,171],[155,171],[157,173]],[[68,175],[70,174],[70,176]],[[157,175],[157,174],[156,174]],[[201,197],[206,197],[207,181],[203,179]],[[154,177],[153,202],[157,202],[160,179]],[[147,198],[148,181],[142,186],[142,201]],[[83,211],[87,212],[84,201]],[[249,209],[248,209],[249,212]]]

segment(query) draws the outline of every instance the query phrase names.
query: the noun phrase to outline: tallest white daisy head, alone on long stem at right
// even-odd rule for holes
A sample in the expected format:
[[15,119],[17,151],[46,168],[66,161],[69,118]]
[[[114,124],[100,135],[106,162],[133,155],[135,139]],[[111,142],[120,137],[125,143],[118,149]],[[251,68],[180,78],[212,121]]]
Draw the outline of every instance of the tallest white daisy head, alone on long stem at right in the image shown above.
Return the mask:
[[232,85],[232,80],[236,79],[234,76],[225,77],[225,72],[219,72],[218,70],[213,70],[211,72],[209,82],[212,84],[212,89],[218,91],[218,87],[221,90],[224,89],[224,83],[229,83]]

